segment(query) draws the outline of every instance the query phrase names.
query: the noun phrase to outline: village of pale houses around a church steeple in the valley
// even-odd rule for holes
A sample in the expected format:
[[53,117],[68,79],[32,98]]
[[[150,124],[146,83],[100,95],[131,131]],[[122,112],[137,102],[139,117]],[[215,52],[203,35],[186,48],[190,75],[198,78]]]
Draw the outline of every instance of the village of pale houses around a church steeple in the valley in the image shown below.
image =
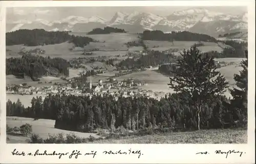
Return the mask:
[[51,95],[61,95],[61,96],[105,96],[111,95],[114,96],[116,100],[118,97],[147,97],[147,98],[156,98],[158,96],[157,92],[149,92],[138,88],[139,86],[147,86],[147,83],[140,82],[138,80],[126,79],[123,81],[117,81],[115,78],[108,78],[107,81],[99,80],[98,83],[93,85],[90,80],[89,83],[83,87],[72,87],[72,82],[74,79],[69,80],[67,83],[59,84],[55,83],[50,86],[28,86],[26,84],[19,84],[6,87],[7,94],[13,95],[35,95],[35,96],[47,96]]

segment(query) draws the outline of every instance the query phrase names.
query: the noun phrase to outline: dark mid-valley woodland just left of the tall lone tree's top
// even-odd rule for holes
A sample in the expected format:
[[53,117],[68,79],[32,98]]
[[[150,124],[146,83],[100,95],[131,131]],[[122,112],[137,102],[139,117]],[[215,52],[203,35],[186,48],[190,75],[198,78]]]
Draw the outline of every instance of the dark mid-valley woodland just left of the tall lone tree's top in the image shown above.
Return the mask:
[[173,62],[177,57],[173,54],[164,54],[159,51],[151,51],[148,55],[142,55],[139,59],[127,58],[122,60],[116,66],[121,69],[145,68]]

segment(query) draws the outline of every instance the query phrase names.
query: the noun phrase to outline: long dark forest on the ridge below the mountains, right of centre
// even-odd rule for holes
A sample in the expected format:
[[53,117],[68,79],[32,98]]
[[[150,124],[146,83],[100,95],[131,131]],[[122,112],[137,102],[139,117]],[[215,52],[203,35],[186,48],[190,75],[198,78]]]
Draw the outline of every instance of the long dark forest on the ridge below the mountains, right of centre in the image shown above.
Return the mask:
[[144,31],[142,33],[143,40],[167,40],[167,41],[210,41],[217,42],[214,37],[206,34],[191,33],[188,31],[163,33],[162,31]]

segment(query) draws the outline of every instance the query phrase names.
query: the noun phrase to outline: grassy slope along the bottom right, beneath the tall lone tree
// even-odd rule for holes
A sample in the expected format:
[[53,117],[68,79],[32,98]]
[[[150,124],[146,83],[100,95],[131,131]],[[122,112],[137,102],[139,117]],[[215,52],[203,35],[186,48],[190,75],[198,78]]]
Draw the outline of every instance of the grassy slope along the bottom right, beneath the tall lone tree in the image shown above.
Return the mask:
[[246,144],[247,130],[218,129],[127,136],[95,140],[94,144]]

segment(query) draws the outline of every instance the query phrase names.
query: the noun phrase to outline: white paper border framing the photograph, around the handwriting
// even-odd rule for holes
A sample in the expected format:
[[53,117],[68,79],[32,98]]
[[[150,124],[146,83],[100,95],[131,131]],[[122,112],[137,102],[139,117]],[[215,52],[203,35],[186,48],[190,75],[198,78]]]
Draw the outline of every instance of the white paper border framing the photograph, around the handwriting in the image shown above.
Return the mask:
[[[247,6],[248,7],[248,143],[247,144],[6,144],[6,78],[5,78],[5,22],[6,7],[63,7],[63,6]],[[254,163],[254,91],[255,91],[255,1],[1,1],[1,163]],[[104,150],[141,150],[143,155],[103,155]],[[79,156],[69,159],[63,156],[12,156],[11,151],[73,151],[83,153],[96,150],[95,158]],[[215,150],[239,150],[246,152],[239,155],[214,154]],[[195,155],[197,152],[208,151],[208,155]]]

